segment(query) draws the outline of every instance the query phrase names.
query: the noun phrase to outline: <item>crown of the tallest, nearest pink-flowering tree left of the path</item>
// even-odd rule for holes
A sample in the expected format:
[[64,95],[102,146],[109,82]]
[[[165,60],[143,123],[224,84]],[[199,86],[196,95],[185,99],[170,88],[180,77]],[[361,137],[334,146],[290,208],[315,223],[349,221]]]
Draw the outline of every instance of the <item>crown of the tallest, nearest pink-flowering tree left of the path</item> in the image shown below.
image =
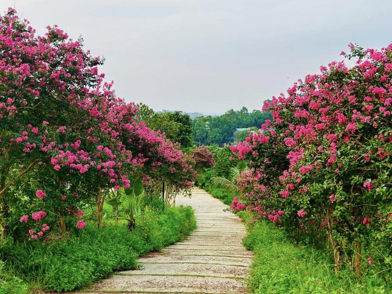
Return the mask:
[[24,184],[33,173],[51,170],[50,177],[60,185],[63,178],[56,172],[63,165],[79,174],[91,168],[90,151],[99,129],[90,118],[106,107],[112,93],[106,92],[109,86],[97,73],[102,61],[83,51],[81,40],[68,39],[56,26],[36,37],[28,22],[9,9],[0,18],[0,48],[0,197],[5,237],[9,204],[20,199],[17,184]]

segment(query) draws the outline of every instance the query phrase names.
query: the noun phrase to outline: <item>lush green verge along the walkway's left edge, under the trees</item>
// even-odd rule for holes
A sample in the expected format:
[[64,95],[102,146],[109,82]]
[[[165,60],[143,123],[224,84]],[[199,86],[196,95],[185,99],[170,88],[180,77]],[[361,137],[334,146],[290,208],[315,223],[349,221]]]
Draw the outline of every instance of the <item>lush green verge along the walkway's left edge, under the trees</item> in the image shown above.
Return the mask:
[[[190,207],[145,211],[134,232],[125,225],[97,228],[93,223],[78,236],[40,242],[8,243],[1,248],[0,293],[40,290],[70,291],[137,266],[139,255],[181,240],[196,226]],[[29,290],[26,290],[26,289]]]

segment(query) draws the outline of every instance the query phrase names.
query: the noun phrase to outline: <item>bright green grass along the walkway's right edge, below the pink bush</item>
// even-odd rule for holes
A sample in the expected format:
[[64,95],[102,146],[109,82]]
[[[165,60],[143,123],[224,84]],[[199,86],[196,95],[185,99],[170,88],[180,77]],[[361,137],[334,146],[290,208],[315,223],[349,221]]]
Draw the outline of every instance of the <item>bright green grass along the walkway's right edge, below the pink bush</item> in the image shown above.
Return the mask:
[[[239,215],[245,222],[249,221],[246,212]],[[364,270],[361,281],[349,270],[341,271],[337,276],[333,261],[325,251],[296,246],[272,224],[257,222],[247,227],[249,234],[243,244],[255,254],[248,282],[249,289],[254,293],[391,292],[391,284],[386,284],[371,266]]]

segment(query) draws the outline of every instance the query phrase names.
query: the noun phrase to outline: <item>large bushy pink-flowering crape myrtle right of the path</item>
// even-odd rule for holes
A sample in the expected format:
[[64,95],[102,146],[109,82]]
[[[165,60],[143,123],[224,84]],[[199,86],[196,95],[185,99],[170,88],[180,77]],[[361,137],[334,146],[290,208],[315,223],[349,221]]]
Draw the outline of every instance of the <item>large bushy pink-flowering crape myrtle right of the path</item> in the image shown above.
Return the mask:
[[[305,232],[335,269],[385,267],[392,252],[392,44],[350,44],[352,68],[332,62],[265,104],[273,121],[232,147],[250,160],[238,180],[257,218]],[[364,250],[366,249],[366,250]],[[386,279],[386,278],[385,278]]]

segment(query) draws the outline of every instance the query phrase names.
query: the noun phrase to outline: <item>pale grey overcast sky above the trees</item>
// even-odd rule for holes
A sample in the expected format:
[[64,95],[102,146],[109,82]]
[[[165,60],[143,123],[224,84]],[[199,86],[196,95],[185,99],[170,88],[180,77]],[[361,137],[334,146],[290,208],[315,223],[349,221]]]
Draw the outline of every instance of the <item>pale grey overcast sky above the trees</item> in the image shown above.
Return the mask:
[[384,0],[0,0],[106,58],[117,95],[154,110],[260,109],[347,45],[392,41]]

